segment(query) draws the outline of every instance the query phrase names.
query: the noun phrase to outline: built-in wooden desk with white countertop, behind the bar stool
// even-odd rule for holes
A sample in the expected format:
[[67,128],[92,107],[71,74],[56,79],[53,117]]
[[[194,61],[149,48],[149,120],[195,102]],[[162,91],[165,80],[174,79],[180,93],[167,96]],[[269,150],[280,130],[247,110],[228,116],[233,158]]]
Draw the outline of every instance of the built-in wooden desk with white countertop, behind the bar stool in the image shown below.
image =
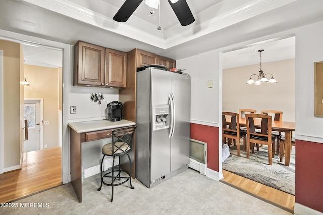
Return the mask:
[[132,125],[135,123],[128,120],[116,122],[93,120],[68,124],[70,127],[71,183],[79,202],[82,202],[82,142],[109,138],[113,129]]

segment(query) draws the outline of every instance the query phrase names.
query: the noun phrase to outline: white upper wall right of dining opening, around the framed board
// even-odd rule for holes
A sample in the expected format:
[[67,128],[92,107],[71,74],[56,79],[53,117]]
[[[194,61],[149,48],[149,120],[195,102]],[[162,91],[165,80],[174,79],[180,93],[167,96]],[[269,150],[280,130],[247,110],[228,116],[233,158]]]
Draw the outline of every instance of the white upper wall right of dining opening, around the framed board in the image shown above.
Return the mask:
[[323,61],[323,22],[296,32],[296,138],[323,143],[323,118],[314,116],[314,62]]

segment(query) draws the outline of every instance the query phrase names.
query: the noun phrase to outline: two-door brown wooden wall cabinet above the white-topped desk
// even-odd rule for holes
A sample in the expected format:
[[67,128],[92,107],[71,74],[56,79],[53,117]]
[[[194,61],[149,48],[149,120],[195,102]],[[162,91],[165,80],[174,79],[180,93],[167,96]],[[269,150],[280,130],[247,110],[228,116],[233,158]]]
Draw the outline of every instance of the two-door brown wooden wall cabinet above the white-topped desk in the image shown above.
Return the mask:
[[127,53],[78,41],[74,46],[74,86],[126,87]]

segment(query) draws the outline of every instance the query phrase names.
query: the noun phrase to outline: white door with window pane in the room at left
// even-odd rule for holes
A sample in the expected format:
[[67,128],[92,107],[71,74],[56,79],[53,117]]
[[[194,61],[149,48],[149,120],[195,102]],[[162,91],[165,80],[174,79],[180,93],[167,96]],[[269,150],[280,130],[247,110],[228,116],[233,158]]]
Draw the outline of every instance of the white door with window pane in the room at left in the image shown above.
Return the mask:
[[42,149],[40,100],[25,100],[24,118],[28,127],[28,140],[24,141],[24,152]]

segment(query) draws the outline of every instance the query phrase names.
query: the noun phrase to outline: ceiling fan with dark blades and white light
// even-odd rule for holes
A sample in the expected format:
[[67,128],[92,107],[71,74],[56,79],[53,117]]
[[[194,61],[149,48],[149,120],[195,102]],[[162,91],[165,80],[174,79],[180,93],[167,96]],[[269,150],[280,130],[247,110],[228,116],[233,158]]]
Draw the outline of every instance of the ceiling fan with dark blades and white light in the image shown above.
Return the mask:
[[[113,20],[117,22],[126,22],[142,1],[143,0],[126,0],[113,17]],[[153,5],[157,5],[158,8],[159,0],[146,0],[145,3],[147,4],[147,2],[153,2]],[[186,0],[168,0],[168,2],[171,5],[175,15],[177,16],[182,26],[189,25],[195,21],[194,16],[190,8],[188,7]]]

